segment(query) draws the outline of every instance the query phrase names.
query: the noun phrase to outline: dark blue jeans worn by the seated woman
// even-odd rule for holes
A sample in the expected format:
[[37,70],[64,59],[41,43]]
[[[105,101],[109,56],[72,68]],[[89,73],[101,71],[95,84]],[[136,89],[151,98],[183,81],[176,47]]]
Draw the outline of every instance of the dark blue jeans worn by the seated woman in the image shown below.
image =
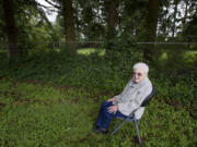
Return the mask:
[[96,125],[104,130],[108,130],[112,119],[116,117],[124,119],[127,118],[127,115],[123,114],[120,111],[117,111],[116,113],[109,113],[107,109],[111,106],[113,106],[112,101],[104,101],[100,108]]

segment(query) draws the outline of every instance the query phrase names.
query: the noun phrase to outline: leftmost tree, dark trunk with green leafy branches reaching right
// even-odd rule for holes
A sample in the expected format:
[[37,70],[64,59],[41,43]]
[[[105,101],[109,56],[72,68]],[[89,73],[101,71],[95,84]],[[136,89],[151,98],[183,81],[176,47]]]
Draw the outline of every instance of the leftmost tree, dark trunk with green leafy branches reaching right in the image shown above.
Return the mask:
[[27,49],[35,44],[33,36],[36,27],[46,23],[53,30],[51,24],[36,0],[3,0],[0,4],[0,16],[4,19],[0,22],[0,32],[7,36],[1,39],[9,45],[10,59],[25,59]]

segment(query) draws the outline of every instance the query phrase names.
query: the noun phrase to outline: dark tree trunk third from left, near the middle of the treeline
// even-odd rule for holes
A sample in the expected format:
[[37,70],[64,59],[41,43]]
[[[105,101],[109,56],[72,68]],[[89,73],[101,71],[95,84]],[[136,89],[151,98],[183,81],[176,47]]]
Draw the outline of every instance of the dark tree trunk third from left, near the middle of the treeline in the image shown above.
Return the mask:
[[111,50],[113,46],[113,38],[115,37],[116,25],[116,0],[109,0],[107,5],[107,45],[106,49]]

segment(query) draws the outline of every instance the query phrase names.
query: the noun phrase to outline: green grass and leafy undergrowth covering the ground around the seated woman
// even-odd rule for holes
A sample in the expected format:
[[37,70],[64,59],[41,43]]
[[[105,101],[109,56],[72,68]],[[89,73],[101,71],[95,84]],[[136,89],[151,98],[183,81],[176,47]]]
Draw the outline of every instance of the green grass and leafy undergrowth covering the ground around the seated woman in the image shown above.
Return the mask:
[[[137,61],[128,53],[117,52],[113,62],[82,54],[38,53],[11,66],[2,59],[0,147],[139,146],[132,123],[114,136],[92,132],[102,101],[123,90]],[[143,146],[195,147],[196,72],[165,72],[150,65],[158,93],[139,122]]]

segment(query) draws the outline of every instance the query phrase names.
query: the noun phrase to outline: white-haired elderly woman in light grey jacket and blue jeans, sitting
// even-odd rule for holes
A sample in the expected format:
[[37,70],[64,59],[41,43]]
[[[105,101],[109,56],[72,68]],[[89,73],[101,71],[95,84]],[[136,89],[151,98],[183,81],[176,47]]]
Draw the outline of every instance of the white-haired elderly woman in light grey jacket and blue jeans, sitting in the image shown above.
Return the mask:
[[[152,84],[148,78],[149,66],[140,62],[136,63],[132,69],[132,78],[124,91],[102,103],[94,128],[95,133],[107,133],[113,118],[127,118],[151,94]],[[143,111],[144,107],[140,107],[135,112],[136,119],[140,119]]]

